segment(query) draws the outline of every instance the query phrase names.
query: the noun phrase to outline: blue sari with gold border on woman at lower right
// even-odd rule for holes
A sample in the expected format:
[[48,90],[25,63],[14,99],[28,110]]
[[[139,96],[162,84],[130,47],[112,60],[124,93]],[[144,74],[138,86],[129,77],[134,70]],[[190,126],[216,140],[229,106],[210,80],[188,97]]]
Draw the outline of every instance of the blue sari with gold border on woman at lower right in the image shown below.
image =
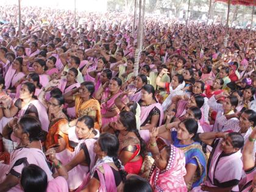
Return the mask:
[[171,138],[173,141],[173,145],[176,148],[182,149],[185,154],[186,165],[191,163],[197,166],[196,174],[194,174],[193,178],[191,179],[190,183],[188,183],[187,188],[188,190],[193,189],[194,187],[199,186],[206,176],[206,158],[205,154],[202,151],[202,146],[198,142],[194,142],[192,144],[180,144],[180,140],[177,138],[177,132],[171,132]]

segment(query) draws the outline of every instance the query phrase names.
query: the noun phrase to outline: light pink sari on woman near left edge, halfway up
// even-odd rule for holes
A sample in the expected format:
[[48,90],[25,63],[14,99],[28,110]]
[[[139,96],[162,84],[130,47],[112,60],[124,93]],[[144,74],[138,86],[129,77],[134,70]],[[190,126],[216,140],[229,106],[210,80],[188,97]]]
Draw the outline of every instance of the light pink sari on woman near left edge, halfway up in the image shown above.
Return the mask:
[[6,89],[13,87],[16,84],[16,82],[18,82],[18,80],[22,79],[25,76],[23,72],[19,72],[17,74],[15,73],[16,70],[13,69],[12,66],[10,66],[4,78]]

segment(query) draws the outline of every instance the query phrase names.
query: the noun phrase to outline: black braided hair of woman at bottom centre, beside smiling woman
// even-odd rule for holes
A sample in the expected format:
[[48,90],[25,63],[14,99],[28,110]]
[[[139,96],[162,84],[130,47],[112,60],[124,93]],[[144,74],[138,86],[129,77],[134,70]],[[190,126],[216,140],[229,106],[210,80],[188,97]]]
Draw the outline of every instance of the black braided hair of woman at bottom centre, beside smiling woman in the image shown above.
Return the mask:
[[99,146],[101,147],[101,150],[104,151],[108,155],[108,157],[113,158],[113,162],[115,163],[115,166],[118,168],[122,180],[125,181],[127,172],[122,169],[117,154],[119,149],[118,138],[110,133],[102,133],[98,138],[98,142]]

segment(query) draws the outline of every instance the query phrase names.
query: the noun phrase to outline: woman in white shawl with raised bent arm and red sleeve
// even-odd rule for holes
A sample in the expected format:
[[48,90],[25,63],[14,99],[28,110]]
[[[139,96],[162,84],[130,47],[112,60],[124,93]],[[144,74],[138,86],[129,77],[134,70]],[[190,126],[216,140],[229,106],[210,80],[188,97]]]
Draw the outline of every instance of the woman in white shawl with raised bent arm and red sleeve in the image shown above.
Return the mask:
[[162,69],[160,74],[158,74],[156,79],[156,84],[159,87],[165,88],[169,94],[169,96],[165,99],[162,104],[163,111],[165,112],[168,107],[171,105],[172,98],[176,95],[183,95],[185,94],[182,89],[185,87],[184,78],[180,74],[176,74],[172,77],[171,84],[161,82],[161,78],[164,74],[168,74],[168,69]]

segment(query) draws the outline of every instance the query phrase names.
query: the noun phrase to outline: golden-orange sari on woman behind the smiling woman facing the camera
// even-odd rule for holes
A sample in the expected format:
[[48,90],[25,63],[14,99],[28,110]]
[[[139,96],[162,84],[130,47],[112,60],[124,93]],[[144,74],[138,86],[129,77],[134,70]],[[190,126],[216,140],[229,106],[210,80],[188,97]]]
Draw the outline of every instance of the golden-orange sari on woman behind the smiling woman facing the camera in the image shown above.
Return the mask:
[[80,96],[76,96],[75,108],[76,118],[83,115],[90,116],[90,112],[96,111],[94,128],[98,130],[101,128],[101,105],[99,105],[98,100],[91,98],[90,100],[84,102]]

